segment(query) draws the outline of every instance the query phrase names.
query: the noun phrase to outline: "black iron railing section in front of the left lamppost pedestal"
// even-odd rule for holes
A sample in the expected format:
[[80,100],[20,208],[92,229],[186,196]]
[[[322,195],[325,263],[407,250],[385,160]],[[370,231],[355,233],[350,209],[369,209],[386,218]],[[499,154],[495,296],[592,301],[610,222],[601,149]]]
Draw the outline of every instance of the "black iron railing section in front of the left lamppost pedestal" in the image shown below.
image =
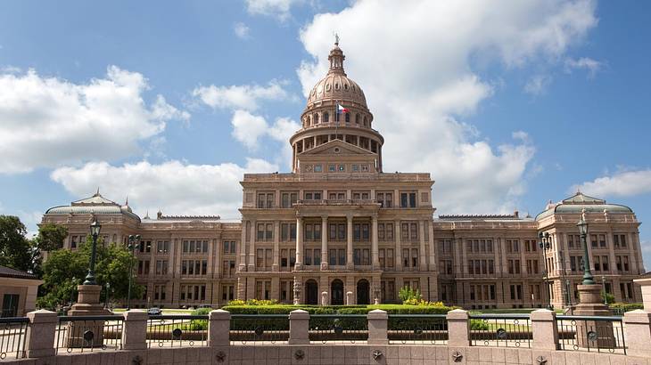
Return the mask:
[[60,316],[56,327],[54,346],[56,353],[94,350],[119,350],[122,348],[121,315]]

